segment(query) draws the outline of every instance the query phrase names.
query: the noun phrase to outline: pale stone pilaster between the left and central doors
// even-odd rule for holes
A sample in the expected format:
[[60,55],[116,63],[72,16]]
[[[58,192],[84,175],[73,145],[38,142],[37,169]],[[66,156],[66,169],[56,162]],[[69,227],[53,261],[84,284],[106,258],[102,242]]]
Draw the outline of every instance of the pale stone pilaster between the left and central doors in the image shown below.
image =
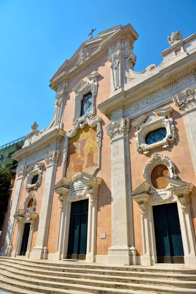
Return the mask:
[[40,211],[37,240],[36,245],[33,248],[32,253],[30,254],[31,258],[42,259],[44,255],[46,255],[49,233],[49,221],[53,198],[53,187],[56,175],[56,165],[59,155],[60,150],[49,151],[49,153],[45,155],[47,172],[44,184],[44,193],[42,197],[42,206]]

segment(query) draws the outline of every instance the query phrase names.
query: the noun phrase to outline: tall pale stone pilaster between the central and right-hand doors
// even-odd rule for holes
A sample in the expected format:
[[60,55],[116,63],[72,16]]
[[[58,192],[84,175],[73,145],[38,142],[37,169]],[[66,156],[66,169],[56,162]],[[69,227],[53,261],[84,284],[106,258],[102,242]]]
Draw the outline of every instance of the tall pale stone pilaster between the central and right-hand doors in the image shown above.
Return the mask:
[[[112,178],[112,246],[108,249],[109,263],[130,264],[128,233],[128,195],[126,183],[126,137],[130,119],[110,123],[106,132],[111,138]],[[128,151],[128,150],[127,150]]]

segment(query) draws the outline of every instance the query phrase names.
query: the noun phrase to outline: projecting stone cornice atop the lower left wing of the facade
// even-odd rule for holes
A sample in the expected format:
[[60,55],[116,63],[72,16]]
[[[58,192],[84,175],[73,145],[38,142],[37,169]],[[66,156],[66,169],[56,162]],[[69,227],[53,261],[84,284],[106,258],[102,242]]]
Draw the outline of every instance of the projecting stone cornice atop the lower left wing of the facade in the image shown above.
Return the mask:
[[29,157],[30,155],[35,154],[42,149],[45,149],[55,142],[60,142],[61,139],[64,138],[64,135],[65,131],[62,129],[53,129],[51,132],[47,133],[36,142],[16,151],[12,155],[12,158],[17,161],[21,161],[22,159]]

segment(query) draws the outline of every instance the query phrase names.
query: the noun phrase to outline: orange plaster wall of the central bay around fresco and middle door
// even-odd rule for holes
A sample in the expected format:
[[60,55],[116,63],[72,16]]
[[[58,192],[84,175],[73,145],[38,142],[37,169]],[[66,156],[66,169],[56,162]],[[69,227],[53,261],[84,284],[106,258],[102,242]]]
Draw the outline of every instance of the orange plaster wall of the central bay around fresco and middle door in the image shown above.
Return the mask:
[[[106,100],[111,92],[110,86],[110,63],[107,60],[107,55],[103,56],[96,63],[94,63],[87,70],[83,71],[76,77],[74,77],[68,85],[67,89],[67,101],[64,111],[64,130],[67,131],[73,128],[74,108],[73,101],[75,93],[72,91],[73,87],[81,80],[88,80],[86,77],[88,74],[98,72],[98,95],[95,100],[96,107],[99,103]],[[102,118],[102,148],[101,148],[101,169],[97,176],[101,177],[102,183],[98,191],[98,227],[97,227],[97,254],[108,254],[107,250],[111,246],[111,145],[110,139],[106,134],[105,127],[110,120],[105,117],[97,109],[97,116]],[[62,140],[64,141],[64,140]],[[63,153],[63,143],[61,142],[61,156]],[[61,162],[61,158],[58,162]],[[57,168],[56,180],[57,183],[62,176],[63,164]],[[49,226],[49,240],[48,249],[49,253],[56,252],[56,241],[58,233],[58,221],[59,221],[59,200],[58,195],[53,196],[52,212]],[[106,233],[106,239],[100,239],[100,233]]]

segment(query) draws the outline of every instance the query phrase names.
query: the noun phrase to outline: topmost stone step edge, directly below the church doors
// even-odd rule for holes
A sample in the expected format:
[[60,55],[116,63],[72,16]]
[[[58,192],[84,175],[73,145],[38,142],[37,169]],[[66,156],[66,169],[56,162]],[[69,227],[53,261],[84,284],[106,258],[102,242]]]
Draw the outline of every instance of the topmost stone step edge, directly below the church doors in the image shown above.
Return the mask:
[[[59,267],[59,266],[63,266],[64,264],[62,263],[62,261],[60,261],[61,262],[61,264],[60,263],[57,263],[56,261],[55,262],[51,262],[50,263],[50,261],[49,260],[47,260],[47,262],[44,262],[44,260],[42,261],[42,260],[33,260],[33,259],[20,259],[20,258],[16,258],[16,257],[1,257],[0,256],[0,260],[1,259],[9,259],[9,260],[11,260],[11,261],[20,261],[20,263],[21,262],[23,262],[23,263],[28,263],[28,264],[45,264],[45,265],[47,265],[47,266],[56,266],[56,267]],[[72,263],[72,262],[70,262],[70,263],[66,263],[65,264],[65,267],[68,267],[69,268],[69,266],[70,267],[72,267],[72,268],[77,268],[77,266],[78,266],[78,264],[75,264],[75,263]],[[187,272],[187,271],[194,271],[195,273],[196,273],[196,269],[195,268],[163,268],[163,267],[155,267],[155,266],[132,266],[132,265],[130,265],[130,266],[122,266],[122,265],[106,265],[106,264],[102,264],[102,265],[98,265],[98,264],[96,264],[96,263],[88,263],[88,264],[79,264],[79,266],[80,266],[80,268],[81,269],[85,269],[85,268],[90,268],[90,269],[96,269],[96,268],[102,268],[102,269],[106,269],[106,268],[108,268],[108,269],[124,269],[124,270],[127,270],[127,268],[129,269],[129,270],[131,270],[131,269],[135,269],[135,270],[138,270],[138,269],[142,269],[142,270],[152,270],[152,271],[154,271],[154,270],[161,270],[161,271],[163,271],[163,272],[167,272],[167,271],[184,271],[184,272]]]

